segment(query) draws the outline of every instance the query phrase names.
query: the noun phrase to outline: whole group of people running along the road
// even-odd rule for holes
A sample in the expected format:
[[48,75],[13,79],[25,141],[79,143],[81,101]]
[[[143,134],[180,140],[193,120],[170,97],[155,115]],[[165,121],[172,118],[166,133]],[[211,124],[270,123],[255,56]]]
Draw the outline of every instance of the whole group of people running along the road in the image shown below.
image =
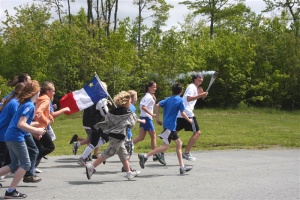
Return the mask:
[[[31,80],[28,74],[22,74],[15,81],[15,89],[4,98],[0,106],[0,176],[13,173],[14,177],[5,192],[4,198],[26,198],[16,190],[23,178],[23,182],[39,182],[36,175],[36,167],[42,158],[51,153],[55,146],[55,134],[51,128],[54,118],[70,111],[68,107],[54,111],[52,100],[55,87],[52,82],[46,81],[41,86],[38,81]],[[113,98],[101,99],[97,104],[83,111],[83,126],[88,135],[87,138],[79,138],[74,135],[70,141],[73,144],[73,153],[76,154],[81,145],[86,144],[84,152],[78,160],[78,164],[85,166],[88,179],[95,173],[95,168],[101,163],[118,154],[123,164],[122,172],[126,172],[128,180],[140,174],[140,171],[130,167],[129,160],[133,153],[133,147],[139,141],[144,140],[148,132],[151,138],[152,151],[147,154],[138,154],[141,168],[149,157],[166,165],[164,152],[168,149],[171,140],[175,141],[176,153],[179,162],[179,172],[184,174],[192,169],[185,165],[183,158],[193,161],[190,150],[200,136],[200,128],[194,116],[193,110],[197,99],[206,97],[200,86],[203,75],[194,73],[192,83],[186,88],[181,97],[183,88],[180,83],[172,86],[172,96],[159,101],[156,104],[156,83],[150,81],[145,85],[145,96],[140,101],[140,117],[136,115],[134,104],[137,102],[137,92],[134,90],[121,91]],[[101,84],[107,90],[104,82]],[[108,109],[108,105],[113,105]],[[154,114],[155,108],[155,114]],[[160,108],[163,108],[163,121],[160,119]],[[153,118],[158,125],[163,125],[163,132],[158,135],[163,144],[156,146],[156,132]],[[140,133],[132,138],[131,128],[140,123]],[[182,141],[178,137],[178,131],[185,129],[192,131],[185,151],[182,153]],[[99,155],[98,148],[108,143],[108,147]],[[93,156],[90,157],[91,153]],[[94,162],[88,163],[94,159]],[[0,185],[1,186],[1,185]]]

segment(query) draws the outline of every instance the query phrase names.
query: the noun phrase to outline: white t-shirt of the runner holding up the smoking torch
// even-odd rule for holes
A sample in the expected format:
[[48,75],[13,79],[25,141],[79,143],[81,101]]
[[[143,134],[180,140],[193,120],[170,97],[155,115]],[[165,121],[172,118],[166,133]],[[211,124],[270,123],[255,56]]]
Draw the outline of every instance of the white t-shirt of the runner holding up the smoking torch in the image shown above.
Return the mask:
[[[198,89],[196,87],[195,84],[191,83],[185,90],[184,94],[183,94],[183,105],[185,107],[185,113],[188,117],[194,117],[194,107],[196,105],[197,100],[194,101],[188,101],[187,97],[188,96],[197,96],[198,95]],[[178,116],[177,117],[181,117],[181,113],[178,112]]]

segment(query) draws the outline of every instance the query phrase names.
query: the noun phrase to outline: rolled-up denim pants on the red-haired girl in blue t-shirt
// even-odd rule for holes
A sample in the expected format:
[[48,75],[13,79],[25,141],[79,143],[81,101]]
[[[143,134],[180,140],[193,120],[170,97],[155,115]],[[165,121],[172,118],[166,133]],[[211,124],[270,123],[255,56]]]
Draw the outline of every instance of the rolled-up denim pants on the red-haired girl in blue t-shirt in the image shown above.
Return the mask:
[[23,168],[25,171],[28,171],[31,163],[25,141],[6,142],[6,145],[11,159],[11,163],[8,165],[11,173],[15,173],[19,167]]

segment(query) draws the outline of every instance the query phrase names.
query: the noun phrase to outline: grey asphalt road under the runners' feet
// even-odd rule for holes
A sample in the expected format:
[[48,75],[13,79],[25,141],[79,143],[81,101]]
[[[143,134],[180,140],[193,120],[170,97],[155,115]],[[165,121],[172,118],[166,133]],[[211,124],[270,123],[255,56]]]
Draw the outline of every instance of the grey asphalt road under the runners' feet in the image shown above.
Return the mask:
[[[167,165],[149,159],[141,169],[137,154],[131,159],[141,174],[128,181],[115,156],[97,167],[91,180],[77,165],[79,156],[50,156],[43,160],[39,183],[19,184],[27,199],[300,199],[300,150],[230,150],[193,152],[185,161],[193,170],[179,174],[175,153]],[[0,197],[13,175],[1,180]]]

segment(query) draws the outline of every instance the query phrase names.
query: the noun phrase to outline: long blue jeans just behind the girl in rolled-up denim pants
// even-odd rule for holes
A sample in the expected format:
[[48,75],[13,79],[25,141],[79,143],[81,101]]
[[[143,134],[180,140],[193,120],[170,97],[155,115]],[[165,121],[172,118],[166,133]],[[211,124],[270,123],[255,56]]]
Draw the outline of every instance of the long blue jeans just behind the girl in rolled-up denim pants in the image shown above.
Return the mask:
[[35,142],[33,140],[33,137],[27,136],[25,137],[25,142],[28,148],[28,153],[29,153],[29,158],[30,158],[30,169],[26,172],[25,176],[35,176],[35,163],[36,163],[36,159],[39,155],[39,149],[37,148],[37,146],[35,145]]

